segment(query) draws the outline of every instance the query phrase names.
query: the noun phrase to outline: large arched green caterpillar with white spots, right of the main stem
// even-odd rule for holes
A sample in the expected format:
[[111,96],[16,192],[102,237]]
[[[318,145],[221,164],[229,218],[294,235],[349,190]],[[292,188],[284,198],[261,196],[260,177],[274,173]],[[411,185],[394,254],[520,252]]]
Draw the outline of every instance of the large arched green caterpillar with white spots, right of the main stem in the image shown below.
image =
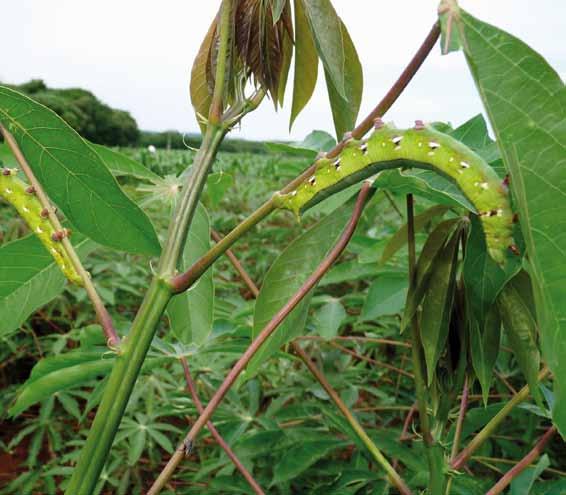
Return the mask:
[[376,119],[373,134],[362,141],[348,133],[340,155],[319,157],[314,174],[289,193],[277,194],[275,203],[300,216],[335,192],[397,167],[433,170],[455,182],[479,212],[490,256],[503,265],[507,249],[518,254],[507,179],[502,182],[479,155],[421,121],[402,130]]

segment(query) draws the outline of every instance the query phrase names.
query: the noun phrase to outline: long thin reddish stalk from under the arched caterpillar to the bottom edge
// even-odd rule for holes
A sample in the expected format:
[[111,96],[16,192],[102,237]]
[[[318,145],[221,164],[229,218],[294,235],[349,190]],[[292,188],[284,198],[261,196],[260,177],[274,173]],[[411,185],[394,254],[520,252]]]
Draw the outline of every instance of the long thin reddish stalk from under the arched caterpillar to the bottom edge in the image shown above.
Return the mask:
[[287,315],[304,299],[304,297],[310,292],[311,289],[320,281],[324,274],[330,269],[333,263],[338,259],[342,251],[346,248],[348,242],[350,241],[354,230],[358,224],[360,216],[362,214],[363,207],[365,206],[366,200],[368,199],[370,192],[369,182],[365,182],[362,189],[358,195],[354,211],[352,212],[352,217],[345,227],[340,239],[330,251],[328,256],[323,260],[323,262],[317,267],[314,273],[308,278],[308,280],[301,286],[301,288],[291,297],[291,299],[279,310],[279,312],[273,317],[273,319],[266,325],[266,327],[260,332],[257,338],[252,342],[252,344],[246,349],[244,354],[240,357],[238,362],[234,365],[228,376],[225,378],[224,382],[220,388],[216,391],[204,412],[200,415],[197,421],[192,426],[191,430],[185,437],[185,440],[179,445],[163,471],[161,471],[159,477],[155,480],[155,483],[148,492],[148,495],[156,495],[159,493],[167,481],[173,475],[176,467],[181,463],[184,456],[184,449],[186,444],[191,444],[194,442],[197,434],[211,418],[212,414],[230,389],[234,384],[240,373],[247,366],[254,354],[259,350],[263,343],[268,339],[268,337],[277,329],[277,327],[283,322]]

